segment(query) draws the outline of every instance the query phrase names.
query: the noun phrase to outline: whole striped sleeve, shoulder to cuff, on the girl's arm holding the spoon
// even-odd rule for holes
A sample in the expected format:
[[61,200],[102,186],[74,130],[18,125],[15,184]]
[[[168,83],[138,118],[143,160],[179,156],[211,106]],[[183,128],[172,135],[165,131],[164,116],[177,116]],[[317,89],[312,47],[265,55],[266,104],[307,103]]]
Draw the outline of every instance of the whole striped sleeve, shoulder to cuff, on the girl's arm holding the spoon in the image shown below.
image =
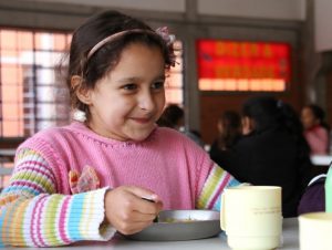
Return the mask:
[[104,221],[107,188],[56,194],[56,180],[37,152],[21,149],[10,184],[0,195],[0,244],[55,247],[81,240],[108,240],[115,229]]

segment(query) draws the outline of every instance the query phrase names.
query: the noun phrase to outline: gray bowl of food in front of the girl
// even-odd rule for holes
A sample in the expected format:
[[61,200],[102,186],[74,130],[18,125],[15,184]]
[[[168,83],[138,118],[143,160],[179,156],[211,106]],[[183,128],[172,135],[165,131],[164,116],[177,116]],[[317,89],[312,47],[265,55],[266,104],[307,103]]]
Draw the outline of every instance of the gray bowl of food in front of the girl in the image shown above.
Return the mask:
[[148,241],[210,238],[221,231],[219,215],[218,211],[210,210],[165,210],[159,213],[158,222],[126,237]]

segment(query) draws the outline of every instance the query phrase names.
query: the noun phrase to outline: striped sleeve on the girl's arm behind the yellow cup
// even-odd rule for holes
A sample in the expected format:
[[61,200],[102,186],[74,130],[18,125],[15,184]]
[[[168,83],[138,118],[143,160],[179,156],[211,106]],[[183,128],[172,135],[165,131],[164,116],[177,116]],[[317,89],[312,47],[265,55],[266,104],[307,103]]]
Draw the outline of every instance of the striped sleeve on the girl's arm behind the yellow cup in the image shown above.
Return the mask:
[[237,179],[215,164],[204,184],[196,207],[198,209],[220,210],[220,195],[224,189],[238,185],[240,183]]

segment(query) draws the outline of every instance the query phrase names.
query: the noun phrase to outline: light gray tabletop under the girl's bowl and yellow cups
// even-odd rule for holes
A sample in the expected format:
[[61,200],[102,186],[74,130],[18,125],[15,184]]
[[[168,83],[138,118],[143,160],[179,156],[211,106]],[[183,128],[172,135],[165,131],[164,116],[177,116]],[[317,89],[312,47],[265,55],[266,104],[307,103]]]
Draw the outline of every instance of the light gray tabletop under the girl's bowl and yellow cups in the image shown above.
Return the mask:
[[[283,220],[283,246],[278,249],[299,250],[299,227],[298,218]],[[59,250],[230,250],[227,246],[226,236],[188,240],[188,241],[133,241],[123,238],[114,239],[108,242],[80,242],[74,246],[56,248]],[[23,250],[29,248],[2,248],[4,250]],[[30,248],[31,249],[31,248]],[[54,248],[46,248],[54,249]],[[314,250],[314,249],[313,249]]]

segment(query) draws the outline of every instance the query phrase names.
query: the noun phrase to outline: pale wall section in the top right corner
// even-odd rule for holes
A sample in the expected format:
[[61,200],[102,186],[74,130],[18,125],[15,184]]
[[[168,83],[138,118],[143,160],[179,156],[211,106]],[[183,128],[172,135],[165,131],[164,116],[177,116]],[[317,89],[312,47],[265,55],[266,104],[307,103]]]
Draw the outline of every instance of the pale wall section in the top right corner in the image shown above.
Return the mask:
[[314,1],[314,48],[317,52],[332,50],[332,1]]

